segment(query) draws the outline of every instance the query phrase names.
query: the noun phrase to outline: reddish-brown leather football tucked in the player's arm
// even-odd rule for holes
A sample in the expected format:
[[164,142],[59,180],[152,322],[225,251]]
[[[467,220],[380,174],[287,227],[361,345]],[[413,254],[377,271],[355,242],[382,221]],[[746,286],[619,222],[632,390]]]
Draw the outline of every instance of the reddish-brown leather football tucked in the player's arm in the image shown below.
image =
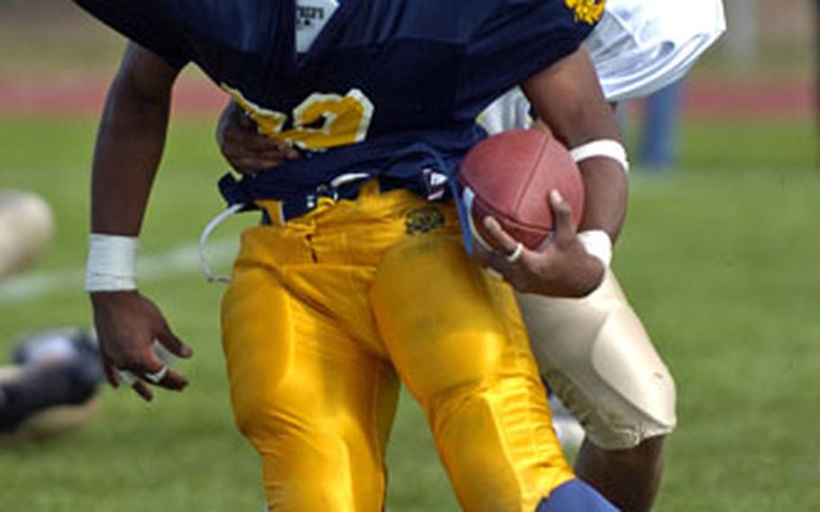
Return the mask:
[[553,189],[571,207],[576,228],[584,211],[578,166],[564,145],[542,130],[512,130],[487,137],[461,161],[458,181],[469,227],[487,249],[487,215],[528,249],[540,249],[553,229]]

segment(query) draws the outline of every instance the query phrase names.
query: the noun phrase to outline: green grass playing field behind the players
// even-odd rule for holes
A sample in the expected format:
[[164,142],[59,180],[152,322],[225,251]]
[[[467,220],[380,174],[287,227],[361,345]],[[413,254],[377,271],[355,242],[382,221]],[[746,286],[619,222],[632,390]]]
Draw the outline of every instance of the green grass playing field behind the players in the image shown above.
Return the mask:
[[[50,200],[58,233],[26,299],[0,287],[0,353],[14,335],[87,325],[81,291],[95,124],[0,118],[0,186]],[[143,255],[196,242],[221,207],[213,119],[175,123],[142,237]],[[684,165],[633,175],[615,269],[678,381],[679,430],[657,509],[820,509],[820,171],[801,123],[688,123]],[[216,238],[254,222],[233,220]],[[227,270],[223,262],[222,270]],[[18,281],[19,282],[19,281]],[[25,281],[26,283],[33,281]],[[145,405],[105,389],[93,425],[0,447],[0,510],[260,510],[256,454],[232,425],[217,311],[222,289],[195,264],[141,280],[196,349],[192,385]],[[457,509],[412,400],[389,453],[389,509]]]

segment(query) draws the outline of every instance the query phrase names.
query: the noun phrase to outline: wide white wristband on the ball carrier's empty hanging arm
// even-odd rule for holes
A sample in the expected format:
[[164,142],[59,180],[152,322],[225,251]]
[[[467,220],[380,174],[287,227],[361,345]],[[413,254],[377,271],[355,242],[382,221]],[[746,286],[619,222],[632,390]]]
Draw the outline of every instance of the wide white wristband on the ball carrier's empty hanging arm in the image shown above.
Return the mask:
[[91,233],[88,242],[86,291],[137,289],[134,282],[136,255],[136,237]]

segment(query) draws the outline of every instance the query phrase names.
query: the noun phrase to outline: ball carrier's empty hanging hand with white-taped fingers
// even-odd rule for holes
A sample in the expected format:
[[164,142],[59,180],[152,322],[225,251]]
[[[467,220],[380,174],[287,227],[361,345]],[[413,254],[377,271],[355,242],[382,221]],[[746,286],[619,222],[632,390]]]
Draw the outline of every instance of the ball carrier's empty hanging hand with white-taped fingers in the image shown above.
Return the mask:
[[91,301],[105,376],[114,388],[124,383],[150,401],[151,386],[174,391],[187,387],[186,377],[169,369],[155,343],[181,358],[193,351],[171,332],[157,306],[136,290],[96,292]]

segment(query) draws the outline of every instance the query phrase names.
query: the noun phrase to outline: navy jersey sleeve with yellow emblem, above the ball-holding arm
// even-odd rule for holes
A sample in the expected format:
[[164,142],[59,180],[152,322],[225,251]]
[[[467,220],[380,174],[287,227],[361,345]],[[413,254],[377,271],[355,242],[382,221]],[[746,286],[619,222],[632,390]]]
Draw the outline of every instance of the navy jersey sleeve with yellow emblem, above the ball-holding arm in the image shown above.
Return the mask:
[[604,0],[499,2],[469,42],[458,103],[480,111],[500,92],[578,50],[603,12]]

